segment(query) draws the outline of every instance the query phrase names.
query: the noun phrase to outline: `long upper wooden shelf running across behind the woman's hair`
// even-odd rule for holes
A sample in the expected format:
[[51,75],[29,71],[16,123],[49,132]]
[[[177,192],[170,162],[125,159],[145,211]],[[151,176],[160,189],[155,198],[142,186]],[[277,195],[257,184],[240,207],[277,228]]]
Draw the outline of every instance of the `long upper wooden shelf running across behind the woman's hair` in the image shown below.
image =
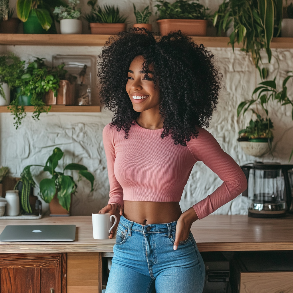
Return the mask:
[[[110,35],[0,34],[1,45],[104,46]],[[231,47],[228,37],[192,37],[205,47]],[[237,43],[235,47],[240,47]],[[293,48],[293,38],[273,38],[271,48]]]

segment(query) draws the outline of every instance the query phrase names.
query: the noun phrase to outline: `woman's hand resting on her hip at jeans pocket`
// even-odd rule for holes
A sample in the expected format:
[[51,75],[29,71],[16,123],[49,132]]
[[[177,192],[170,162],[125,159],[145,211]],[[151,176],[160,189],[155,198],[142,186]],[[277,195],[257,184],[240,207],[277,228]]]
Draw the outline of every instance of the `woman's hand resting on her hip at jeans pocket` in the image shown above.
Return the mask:
[[188,238],[190,228],[193,222],[198,219],[193,207],[182,213],[176,224],[176,234],[173,249],[176,250],[179,241],[185,241]]

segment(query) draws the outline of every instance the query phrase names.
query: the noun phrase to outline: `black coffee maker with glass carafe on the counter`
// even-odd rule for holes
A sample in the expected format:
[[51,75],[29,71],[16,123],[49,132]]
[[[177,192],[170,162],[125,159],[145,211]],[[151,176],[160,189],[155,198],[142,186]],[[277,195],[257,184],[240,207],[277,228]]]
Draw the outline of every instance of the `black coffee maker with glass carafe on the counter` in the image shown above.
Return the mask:
[[[248,188],[242,193],[249,199],[248,217],[276,218],[293,212],[293,180],[288,176],[292,168],[293,165],[262,162],[241,166],[248,183]],[[292,174],[289,172],[290,179],[293,179]]]

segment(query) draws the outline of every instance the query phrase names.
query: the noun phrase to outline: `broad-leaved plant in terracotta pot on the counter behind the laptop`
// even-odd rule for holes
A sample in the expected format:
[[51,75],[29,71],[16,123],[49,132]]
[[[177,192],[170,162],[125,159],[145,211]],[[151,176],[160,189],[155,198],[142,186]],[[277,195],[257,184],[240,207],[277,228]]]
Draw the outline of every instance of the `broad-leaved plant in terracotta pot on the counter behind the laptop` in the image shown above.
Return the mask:
[[51,178],[45,178],[40,181],[40,197],[50,207],[50,215],[69,216],[71,207],[72,194],[76,192],[77,184],[72,176],[65,175],[65,171],[79,171],[79,176],[84,177],[91,183],[91,191],[93,191],[94,177],[92,173],[87,171],[84,165],[71,163],[65,166],[63,172],[56,171],[58,161],[63,157],[63,152],[59,148],[53,150],[52,155],[47,159],[45,166],[29,165],[23,169],[21,174],[22,190],[21,190],[21,205],[23,209],[29,209],[29,190],[35,186],[32,174],[30,172],[31,166],[43,167],[44,172],[49,172]]

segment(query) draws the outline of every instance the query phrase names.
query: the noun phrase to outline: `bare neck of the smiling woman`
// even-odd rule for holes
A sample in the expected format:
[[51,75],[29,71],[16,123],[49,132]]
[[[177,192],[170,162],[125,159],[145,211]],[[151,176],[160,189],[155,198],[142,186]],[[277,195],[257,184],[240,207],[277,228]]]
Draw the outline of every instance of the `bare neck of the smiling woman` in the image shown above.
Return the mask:
[[161,129],[163,128],[163,121],[159,105],[156,108],[141,112],[136,119],[139,126],[147,129]]

